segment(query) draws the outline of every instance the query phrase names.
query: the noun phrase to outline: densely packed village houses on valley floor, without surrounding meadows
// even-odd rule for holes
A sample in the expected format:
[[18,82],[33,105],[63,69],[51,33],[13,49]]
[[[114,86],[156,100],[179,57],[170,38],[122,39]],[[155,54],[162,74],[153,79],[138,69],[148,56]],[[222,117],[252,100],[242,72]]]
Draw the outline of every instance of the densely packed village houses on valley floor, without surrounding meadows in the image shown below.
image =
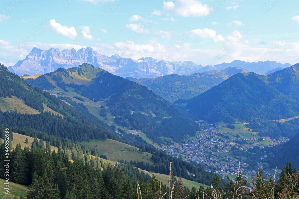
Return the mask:
[[[244,139],[242,136],[236,140],[245,140],[248,144],[239,144],[236,140],[226,139],[223,136],[227,133],[220,131],[219,124],[208,124],[202,127],[201,133],[196,135],[195,139],[186,140],[181,146],[171,145],[163,146],[160,150],[165,151],[168,155],[181,158],[187,162],[196,162],[204,164],[207,171],[218,173],[223,178],[228,175],[237,175],[239,171],[248,178],[247,175],[255,175],[256,171],[249,169],[248,164],[240,160],[236,160],[230,154],[232,150],[248,150],[254,146],[263,148],[257,138]],[[264,139],[265,140],[265,139]],[[276,145],[286,142],[288,139],[281,140],[266,138],[267,141]],[[233,147],[235,146],[235,147]]]

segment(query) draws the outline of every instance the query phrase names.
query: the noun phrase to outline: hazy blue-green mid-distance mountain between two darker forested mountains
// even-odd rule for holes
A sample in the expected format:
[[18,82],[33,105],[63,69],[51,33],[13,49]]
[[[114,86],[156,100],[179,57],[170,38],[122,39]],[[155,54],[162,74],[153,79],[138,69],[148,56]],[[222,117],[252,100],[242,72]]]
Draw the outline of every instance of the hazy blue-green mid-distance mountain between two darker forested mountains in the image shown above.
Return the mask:
[[178,99],[196,97],[239,72],[249,71],[241,67],[228,67],[221,71],[210,70],[192,75],[164,75],[142,79],[128,77],[127,79],[144,85],[164,99],[174,102]]

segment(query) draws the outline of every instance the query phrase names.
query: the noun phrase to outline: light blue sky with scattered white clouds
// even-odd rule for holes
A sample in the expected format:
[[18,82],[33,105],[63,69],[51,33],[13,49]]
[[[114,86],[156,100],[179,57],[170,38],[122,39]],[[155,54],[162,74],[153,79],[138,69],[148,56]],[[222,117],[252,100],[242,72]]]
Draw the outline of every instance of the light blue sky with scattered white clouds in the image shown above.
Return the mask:
[[298,0],[2,0],[0,62],[33,47],[220,64],[299,59]]

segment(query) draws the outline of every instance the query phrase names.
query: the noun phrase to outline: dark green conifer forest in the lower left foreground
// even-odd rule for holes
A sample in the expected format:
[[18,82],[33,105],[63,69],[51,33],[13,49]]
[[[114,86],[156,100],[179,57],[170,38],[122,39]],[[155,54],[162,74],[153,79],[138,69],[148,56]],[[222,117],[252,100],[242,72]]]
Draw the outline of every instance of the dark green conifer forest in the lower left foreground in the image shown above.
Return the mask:
[[[4,152],[3,143],[0,145],[0,154]],[[4,155],[1,159],[3,157]],[[133,196],[135,193],[132,182],[151,180],[149,175],[140,173],[129,164],[118,164],[114,167],[89,155],[77,157],[74,163],[71,163],[68,154],[62,149],[56,153],[44,148],[21,149],[17,144],[9,160],[10,181],[31,184],[27,198],[114,198],[115,195],[121,197],[123,194]],[[3,165],[4,161],[1,160],[1,178],[5,172]]]

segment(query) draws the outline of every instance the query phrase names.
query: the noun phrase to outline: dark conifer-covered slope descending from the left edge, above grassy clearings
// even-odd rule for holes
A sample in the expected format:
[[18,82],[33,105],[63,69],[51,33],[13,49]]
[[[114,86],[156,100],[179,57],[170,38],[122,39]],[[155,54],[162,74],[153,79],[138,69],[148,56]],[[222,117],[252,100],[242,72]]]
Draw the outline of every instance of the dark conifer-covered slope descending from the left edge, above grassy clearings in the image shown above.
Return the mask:
[[[28,101],[30,107],[42,107],[36,108],[41,112],[38,115],[8,111],[0,112],[1,124],[11,127],[34,128],[47,132],[49,135],[57,135],[74,141],[87,141],[92,138],[105,137],[116,139],[115,129],[90,114],[83,104],[68,101],[71,104],[68,105],[41,88],[28,84],[19,76],[9,72],[4,66],[1,66],[0,74],[2,97],[14,95],[24,99],[25,104]],[[43,112],[42,103],[65,117],[62,118],[49,112]]]

